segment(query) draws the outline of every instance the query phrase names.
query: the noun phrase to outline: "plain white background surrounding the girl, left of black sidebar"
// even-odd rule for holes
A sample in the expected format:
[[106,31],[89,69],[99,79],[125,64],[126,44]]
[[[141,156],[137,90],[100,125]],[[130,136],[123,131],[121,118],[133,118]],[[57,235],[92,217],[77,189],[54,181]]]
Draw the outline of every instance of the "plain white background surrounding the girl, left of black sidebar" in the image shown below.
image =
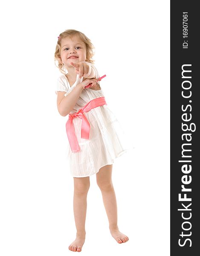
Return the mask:
[[58,35],[83,32],[108,107],[134,149],[113,163],[119,230],[110,235],[90,177],[81,255],[168,256],[170,231],[169,1],[9,1],[1,4],[0,254],[63,256],[75,239],[67,117],[56,106]]

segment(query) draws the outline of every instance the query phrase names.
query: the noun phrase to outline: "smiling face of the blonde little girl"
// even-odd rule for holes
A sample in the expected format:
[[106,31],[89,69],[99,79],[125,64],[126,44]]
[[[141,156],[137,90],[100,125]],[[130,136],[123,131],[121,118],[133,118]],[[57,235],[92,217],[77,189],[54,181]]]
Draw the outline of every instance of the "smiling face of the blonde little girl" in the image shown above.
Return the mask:
[[[77,58],[70,58],[71,56],[76,56]],[[72,67],[70,61],[78,63],[85,60],[86,46],[78,35],[61,39],[61,63],[64,63],[66,67]]]

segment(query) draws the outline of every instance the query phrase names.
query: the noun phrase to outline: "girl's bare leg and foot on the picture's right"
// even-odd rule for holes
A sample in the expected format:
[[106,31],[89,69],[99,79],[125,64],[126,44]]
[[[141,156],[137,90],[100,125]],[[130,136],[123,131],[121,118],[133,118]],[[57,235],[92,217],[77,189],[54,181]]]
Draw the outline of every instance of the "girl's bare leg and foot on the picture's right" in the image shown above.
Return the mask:
[[110,233],[116,241],[121,244],[128,241],[128,236],[119,231],[117,225],[117,203],[112,183],[113,165],[101,167],[96,174],[96,182],[101,189],[104,207],[109,221]]

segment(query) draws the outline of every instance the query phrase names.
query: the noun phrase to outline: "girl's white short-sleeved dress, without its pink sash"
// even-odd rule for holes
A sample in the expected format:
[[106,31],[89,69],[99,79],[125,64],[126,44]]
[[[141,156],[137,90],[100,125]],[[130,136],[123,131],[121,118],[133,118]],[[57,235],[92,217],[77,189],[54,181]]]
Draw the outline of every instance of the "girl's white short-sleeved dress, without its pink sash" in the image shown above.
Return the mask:
[[[96,71],[96,78],[99,78],[100,76],[96,67],[93,64],[90,65]],[[57,80],[56,90],[66,92],[65,96],[67,96],[67,94],[69,94],[82,80],[83,78],[80,79],[79,75],[77,75],[75,83],[70,87],[67,77],[62,75]],[[98,83],[100,86],[100,81],[98,81]],[[91,88],[82,90],[82,93],[70,114],[77,112],[80,108],[90,102],[90,100],[103,96],[102,88],[100,90],[93,90]],[[105,101],[108,105],[109,100],[107,101],[106,97]],[[81,138],[82,120],[78,117],[73,119],[80,151],[76,153],[71,151],[66,132],[67,160],[73,177],[87,177],[94,175],[99,172],[101,167],[113,164],[113,160],[116,157],[121,156],[130,149],[125,132],[119,121],[116,119],[116,116],[110,111],[107,105],[93,108],[84,113],[90,123],[89,140]],[[67,120],[68,116],[66,122]]]

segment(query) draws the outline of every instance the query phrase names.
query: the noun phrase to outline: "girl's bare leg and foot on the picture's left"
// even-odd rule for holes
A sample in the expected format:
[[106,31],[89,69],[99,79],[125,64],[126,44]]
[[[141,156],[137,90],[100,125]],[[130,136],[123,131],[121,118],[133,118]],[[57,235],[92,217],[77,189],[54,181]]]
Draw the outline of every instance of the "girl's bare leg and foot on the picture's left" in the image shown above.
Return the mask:
[[69,250],[80,252],[85,241],[85,218],[87,211],[87,192],[90,187],[90,177],[74,177],[74,218],[76,239],[70,244]]

